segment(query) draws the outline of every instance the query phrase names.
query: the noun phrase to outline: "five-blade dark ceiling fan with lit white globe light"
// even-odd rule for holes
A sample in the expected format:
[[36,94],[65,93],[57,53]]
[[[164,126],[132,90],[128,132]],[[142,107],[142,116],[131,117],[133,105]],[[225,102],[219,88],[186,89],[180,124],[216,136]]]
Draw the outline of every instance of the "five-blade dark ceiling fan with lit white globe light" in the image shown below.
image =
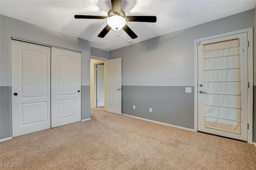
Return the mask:
[[126,22],[156,22],[156,16],[126,16],[121,9],[122,0],[111,0],[112,9],[108,11],[108,16],[90,16],[90,15],[75,15],[75,18],[80,19],[107,19],[106,27],[100,32],[98,37],[104,38],[111,30],[123,29],[132,39],[138,36],[126,25]]

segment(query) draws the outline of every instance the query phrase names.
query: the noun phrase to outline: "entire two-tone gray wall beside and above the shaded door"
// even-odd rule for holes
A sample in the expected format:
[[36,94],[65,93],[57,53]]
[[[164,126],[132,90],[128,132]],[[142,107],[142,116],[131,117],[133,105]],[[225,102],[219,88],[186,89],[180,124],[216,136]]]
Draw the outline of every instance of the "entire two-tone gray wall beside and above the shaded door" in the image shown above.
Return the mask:
[[194,94],[185,93],[194,87],[194,40],[254,23],[249,10],[110,51],[110,59],[122,57],[122,113],[194,128]]

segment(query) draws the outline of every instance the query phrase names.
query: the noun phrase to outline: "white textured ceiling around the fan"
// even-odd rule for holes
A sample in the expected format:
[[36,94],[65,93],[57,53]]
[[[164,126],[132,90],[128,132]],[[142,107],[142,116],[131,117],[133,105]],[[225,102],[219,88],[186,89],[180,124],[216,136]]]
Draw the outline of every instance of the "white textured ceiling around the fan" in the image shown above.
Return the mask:
[[[127,16],[157,17],[156,23],[127,22],[138,36],[132,40],[132,43],[237,14],[255,6],[256,0],[122,0],[122,9]],[[90,42],[99,39],[97,36],[106,26],[106,20],[75,19],[74,15],[107,16],[110,8],[110,0],[0,1],[2,15]],[[131,38],[124,30],[119,31],[119,37],[116,31],[110,30],[102,40],[109,43],[104,45],[91,43],[91,46],[111,51],[130,45],[127,41]]]

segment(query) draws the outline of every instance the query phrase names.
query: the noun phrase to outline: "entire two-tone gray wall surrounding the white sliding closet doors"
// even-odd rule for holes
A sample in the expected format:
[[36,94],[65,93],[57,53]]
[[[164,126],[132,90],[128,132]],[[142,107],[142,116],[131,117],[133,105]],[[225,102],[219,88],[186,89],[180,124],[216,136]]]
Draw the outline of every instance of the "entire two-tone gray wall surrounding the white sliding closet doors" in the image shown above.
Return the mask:
[[90,42],[3,15],[0,15],[0,25],[0,138],[12,135],[10,131],[11,37],[82,52],[82,119],[90,118]]

